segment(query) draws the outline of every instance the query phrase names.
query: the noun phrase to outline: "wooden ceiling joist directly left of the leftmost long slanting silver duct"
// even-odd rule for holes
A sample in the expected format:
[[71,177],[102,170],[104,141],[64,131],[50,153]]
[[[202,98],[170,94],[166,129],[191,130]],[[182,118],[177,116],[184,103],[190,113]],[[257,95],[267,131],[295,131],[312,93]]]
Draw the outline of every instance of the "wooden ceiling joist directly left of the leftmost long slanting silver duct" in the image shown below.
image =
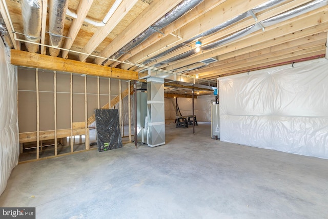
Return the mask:
[[[114,40],[99,53],[99,56],[110,57],[113,55],[180,2],[180,0],[154,1],[134,19],[124,31],[116,36]],[[104,61],[106,61],[104,58],[95,58],[93,63],[100,65]]]

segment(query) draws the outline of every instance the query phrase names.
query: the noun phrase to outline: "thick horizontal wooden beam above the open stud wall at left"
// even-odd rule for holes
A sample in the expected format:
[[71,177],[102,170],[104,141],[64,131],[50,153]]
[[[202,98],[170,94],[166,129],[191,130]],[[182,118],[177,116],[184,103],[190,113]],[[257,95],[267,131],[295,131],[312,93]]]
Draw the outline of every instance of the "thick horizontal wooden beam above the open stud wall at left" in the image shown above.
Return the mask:
[[99,66],[70,59],[41,55],[19,50],[11,50],[10,63],[17,66],[50,69],[55,71],[111,77],[116,79],[138,80],[138,73],[118,68]]

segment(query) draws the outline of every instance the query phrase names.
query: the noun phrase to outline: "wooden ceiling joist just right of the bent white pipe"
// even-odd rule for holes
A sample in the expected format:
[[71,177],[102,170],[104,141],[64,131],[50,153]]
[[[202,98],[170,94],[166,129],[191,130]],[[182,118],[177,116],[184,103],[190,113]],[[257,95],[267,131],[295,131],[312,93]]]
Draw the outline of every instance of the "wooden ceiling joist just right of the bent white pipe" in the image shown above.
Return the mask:
[[[104,27],[100,27],[90,38],[89,42],[83,48],[82,52],[91,54],[98,45],[104,41],[109,33],[116,27],[116,25],[121,21],[122,18],[131,10],[131,8],[137,3],[137,0],[123,0],[119,7],[116,9],[114,14],[111,16],[109,21]],[[79,61],[86,61],[88,55],[80,54]]]

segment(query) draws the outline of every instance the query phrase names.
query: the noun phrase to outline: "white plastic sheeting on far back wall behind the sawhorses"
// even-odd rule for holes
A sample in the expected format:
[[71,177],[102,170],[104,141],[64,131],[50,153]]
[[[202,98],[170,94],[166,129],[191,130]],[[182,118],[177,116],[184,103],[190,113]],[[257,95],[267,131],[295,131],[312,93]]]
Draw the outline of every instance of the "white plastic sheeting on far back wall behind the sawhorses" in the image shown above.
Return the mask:
[[[211,103],[215,102],[214,95],[198,96],[194,101],[195,115],[197,122],[210,122],[211,121]],[[175,98],[165,98],[165,119],[174,120],[175,112]],[[182,115],[192,115],[193,105],[192,98],[178,98],[178,106]]]

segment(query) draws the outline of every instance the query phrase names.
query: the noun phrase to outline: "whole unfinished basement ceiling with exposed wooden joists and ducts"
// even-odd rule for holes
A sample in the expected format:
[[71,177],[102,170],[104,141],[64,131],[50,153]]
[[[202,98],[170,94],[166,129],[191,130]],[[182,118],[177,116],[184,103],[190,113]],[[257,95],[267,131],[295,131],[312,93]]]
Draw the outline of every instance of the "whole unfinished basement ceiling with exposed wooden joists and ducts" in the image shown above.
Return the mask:
[[1,1],[3,38],[13,49],[137,72],[151,67],[214,86],[219,76],[326,53],[322,0]]

